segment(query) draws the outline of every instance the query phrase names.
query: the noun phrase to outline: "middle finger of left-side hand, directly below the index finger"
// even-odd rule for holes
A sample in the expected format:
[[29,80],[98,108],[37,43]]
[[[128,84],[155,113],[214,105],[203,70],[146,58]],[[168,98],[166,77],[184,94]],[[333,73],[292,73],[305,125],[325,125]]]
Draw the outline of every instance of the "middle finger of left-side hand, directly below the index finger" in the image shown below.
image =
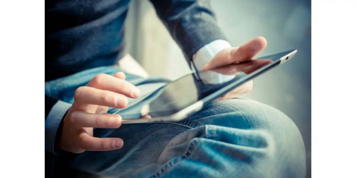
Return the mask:
[[126,96],[122,94],[92,87],[79,87],[75,90],[74,100],[78,105],[89,104],[113,108],[125,108],[129,103]]

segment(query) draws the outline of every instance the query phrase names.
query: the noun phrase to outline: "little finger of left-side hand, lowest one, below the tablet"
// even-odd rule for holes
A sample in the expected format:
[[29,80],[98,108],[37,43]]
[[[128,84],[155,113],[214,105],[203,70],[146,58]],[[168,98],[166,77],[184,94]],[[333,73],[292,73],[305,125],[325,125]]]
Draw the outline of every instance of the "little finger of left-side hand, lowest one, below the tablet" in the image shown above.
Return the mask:
[[88,151],[110,151],[122,148],[124,141],[120,138],[97,138],[82,133],[79,138],[80,148]]

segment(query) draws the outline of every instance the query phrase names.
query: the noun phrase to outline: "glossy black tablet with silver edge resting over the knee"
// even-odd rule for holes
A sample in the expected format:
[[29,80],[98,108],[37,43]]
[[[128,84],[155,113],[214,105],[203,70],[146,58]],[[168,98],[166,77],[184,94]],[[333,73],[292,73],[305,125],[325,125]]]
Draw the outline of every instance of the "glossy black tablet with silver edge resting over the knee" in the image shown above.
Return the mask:
[[122,124],[183,120],[201,110],[204,104],[289,61],[296,53],[294,49],[184,75],[153,92],[141,106],[141,116],[152,118],[123,119]]

